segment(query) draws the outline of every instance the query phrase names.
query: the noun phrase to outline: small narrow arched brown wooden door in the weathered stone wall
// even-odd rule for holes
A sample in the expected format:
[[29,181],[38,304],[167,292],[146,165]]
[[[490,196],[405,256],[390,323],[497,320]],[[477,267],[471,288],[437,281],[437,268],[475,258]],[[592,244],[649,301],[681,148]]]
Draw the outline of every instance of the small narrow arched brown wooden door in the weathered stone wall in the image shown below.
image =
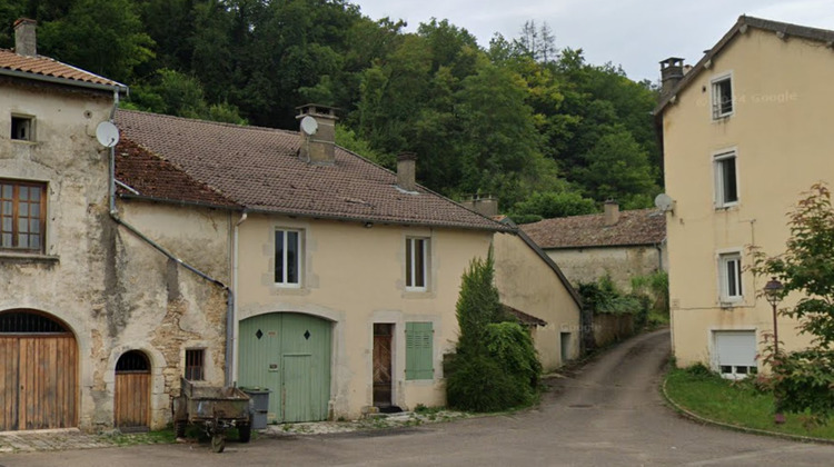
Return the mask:
[[140,350],[127,351],[116,362],[113,424],[122,431],[150,427],[150,361]]

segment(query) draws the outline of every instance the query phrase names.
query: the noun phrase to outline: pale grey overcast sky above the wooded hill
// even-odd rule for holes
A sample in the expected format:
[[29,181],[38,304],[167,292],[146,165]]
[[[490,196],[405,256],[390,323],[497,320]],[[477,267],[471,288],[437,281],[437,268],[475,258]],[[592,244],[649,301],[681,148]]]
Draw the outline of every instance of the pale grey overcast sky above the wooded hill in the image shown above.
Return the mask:
[[365,16],[390,17],[416,30],[448,19],[486,47],[495,32],[518,37],[527,20],[546,22],[558,48],[582,48],[594,64],[622,64],[629,78],[653,81],[658,62],[694,64],[741,14],[834,29],[834,0],[353,0]]

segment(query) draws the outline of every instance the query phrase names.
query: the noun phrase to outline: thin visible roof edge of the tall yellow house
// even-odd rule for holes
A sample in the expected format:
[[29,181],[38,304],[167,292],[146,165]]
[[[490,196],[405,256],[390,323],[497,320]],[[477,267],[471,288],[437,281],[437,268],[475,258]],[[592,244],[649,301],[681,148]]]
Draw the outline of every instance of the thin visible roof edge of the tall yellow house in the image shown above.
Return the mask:
[[748,27],[771,31],[776,34],[782,34],[781,37],[785,38],[797,37],[822,42],[828,48],[834,47],[834,31],[827,29],[808,28],[805,26],[792,24],[788,22],[772,21],[743,14],[738,17],[738,21],[736,21],[733,28],[731,28],[729,31],[727,31],[727,33],[724,34],[723,38],[721,38],[718,43],[709,49],[709,51],[707,51],[704,57],[698,60],[698,62],[692,68],[692,70],[684,74],[684,77],[681,79],[681,81],[678,81],[675,88],[673,88],[671,92],[668,92],[661,99],[661,102],[655,108],[654,113],[662,113],[666,106],[672,102],[672,99],[684,88],[686,88],[692,81],[694,81],[695,77],[707,67],[707,63],[712,61],[713,57],[721,53],[721,51],[725,47],[727,47],[737,34],[744,33],[744,31],[746,31],[746,28]]

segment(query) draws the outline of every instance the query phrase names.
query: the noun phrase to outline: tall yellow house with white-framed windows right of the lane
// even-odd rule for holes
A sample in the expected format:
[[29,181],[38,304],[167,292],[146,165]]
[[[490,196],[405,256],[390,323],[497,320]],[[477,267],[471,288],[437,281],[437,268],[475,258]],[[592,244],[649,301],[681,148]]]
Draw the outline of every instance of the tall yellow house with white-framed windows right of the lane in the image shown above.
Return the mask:
[[[668,216],[673,351],[679,365],[709,365],[728,378],[761,369],[773,331],[767,278],[747,247],[784,251],[785,212],[834,171],[830,118],[834,31],[741,17],[689,68],[662,63],[656,109]],[[782,306],[793,305],[788,297]],[[807,337],[778,318],[788,350]]]

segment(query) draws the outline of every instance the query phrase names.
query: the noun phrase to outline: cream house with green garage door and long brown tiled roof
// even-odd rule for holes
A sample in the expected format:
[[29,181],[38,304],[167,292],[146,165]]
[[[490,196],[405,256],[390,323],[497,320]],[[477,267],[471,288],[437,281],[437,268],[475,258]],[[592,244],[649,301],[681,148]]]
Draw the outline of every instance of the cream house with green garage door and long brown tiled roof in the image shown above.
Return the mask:
[[[400,155],[394,173],[335,146],[331,109],[305,106],[299,120],[300,132],[116,118],[125,217],[162,244],[186,242],[181,222],[198,219],[215,219],[229,239],[196,242],[182,257],[230,251],[230,384],[271,390],[269,419],[444,405],[460,278],[490,246],[505,305],[535,317],[545,368],[578,355],[575,292],[513,227],[416,185],[414,155]],[[160,182],[169,172],[183,182]]]

